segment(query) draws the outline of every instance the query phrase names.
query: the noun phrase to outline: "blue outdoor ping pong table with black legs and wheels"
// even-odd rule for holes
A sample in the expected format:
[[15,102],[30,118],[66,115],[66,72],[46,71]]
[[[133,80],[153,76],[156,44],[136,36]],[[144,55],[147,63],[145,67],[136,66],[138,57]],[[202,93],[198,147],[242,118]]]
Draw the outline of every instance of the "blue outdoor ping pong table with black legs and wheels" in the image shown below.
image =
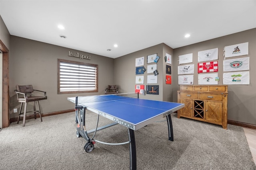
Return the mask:
[[[133,96],[132,96],[133,95]],[[134,96],[135,95],[135,96]],[[139,94],[126,93],[118,95],[97,95],[97,96],[76,96],[68,98],[70,102],[75,103],[76,123],[78,123],[76,135],[83,137],[88,141],[84,145],[86,152],[94,149],[94,144],[104,143],[108,145],[130,145],[130,169],[136,170],[136,145],[134,131],[145,127],[146,125],[166,117],[168,125],[168,139],[173,141],[172,119],[170,114],[184,107],[184,104],[174,102],[162,102],[155,100],[140,99]],[[103,127],[97,127],[90,131],[85,128],[86,109],[93,111],[99,116],[106,117],[113,123]],[[124,143],[105,143],[94,139],[97,130],[120,124],[128,128],[129,141]],[[93,137],[88,136],[94,133]]]

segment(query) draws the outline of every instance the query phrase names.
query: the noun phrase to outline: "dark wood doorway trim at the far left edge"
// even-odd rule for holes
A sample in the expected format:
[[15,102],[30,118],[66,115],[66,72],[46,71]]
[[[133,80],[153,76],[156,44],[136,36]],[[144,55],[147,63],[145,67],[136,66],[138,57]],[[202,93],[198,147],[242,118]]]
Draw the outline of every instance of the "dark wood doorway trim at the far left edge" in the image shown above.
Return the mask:
[[3,82],[2,82],[2,127],[8,127],[10,125],[10,110],[9,110],[9,50],[0,40],[0,50],[2,51],[3,60]]

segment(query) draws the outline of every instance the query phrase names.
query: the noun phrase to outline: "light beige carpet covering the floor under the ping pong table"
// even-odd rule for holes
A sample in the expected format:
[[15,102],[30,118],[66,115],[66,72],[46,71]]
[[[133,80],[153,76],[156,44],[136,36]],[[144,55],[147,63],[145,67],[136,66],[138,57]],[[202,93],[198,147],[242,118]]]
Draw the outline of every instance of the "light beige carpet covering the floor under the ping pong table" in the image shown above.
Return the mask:
[[[87,111],[86,128],[95,128],[96,114]],[[100,125],[112,121],[100,117]],[[168,140],[167,122],[135,131],[138,170],[256,170],[242,127],[219,125],[172,114],[174,141]],[[90,134],[91,136],[92,134]],[[96,140],[128,141],[126,127],[98,131]],[[11,123],[0,131],[0,170],[128,170],[129,145],[96,143],[85,152],[86,140],[76,137],[74,113]]]

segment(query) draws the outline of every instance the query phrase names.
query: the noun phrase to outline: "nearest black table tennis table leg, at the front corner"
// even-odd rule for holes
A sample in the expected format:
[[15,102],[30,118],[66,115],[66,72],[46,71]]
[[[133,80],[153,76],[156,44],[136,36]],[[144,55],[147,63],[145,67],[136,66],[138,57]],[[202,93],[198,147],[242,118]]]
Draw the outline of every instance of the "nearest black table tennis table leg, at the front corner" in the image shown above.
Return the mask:
[[136,170],[137,160],[134,130],[128,128],[128,135],[130,141],[130,170]]

